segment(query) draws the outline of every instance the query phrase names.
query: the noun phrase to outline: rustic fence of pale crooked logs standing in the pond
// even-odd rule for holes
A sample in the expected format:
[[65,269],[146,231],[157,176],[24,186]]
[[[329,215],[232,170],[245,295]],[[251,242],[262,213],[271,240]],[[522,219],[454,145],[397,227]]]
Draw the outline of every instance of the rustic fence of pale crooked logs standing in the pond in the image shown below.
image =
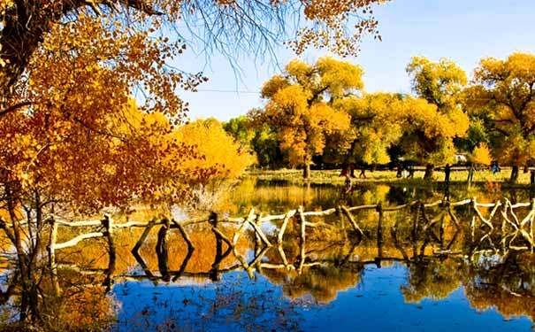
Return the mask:
[[[255,236],[256,236],[256,242],[259,244],[259,251],[267,251],[268,248],[270,248],[273,244],[271,243],[269,237],[264,234],[264,231],[262,230],[262,224],[265,222],[272,222],[272,221],[281,221],[280,227],[277,230],[277,234],[274,235],[274,239],[277,244],[277,249],[279,250],[280,257],[282,259],[282,264],[279,266],[284,266],[287,269],[294,268],[294,266],[288,264],[286,255],[284,254],[284,251],[282,250],[282,243],[283,243],[283,236],[285,235],[285,232],[287,230],[288,224],[294,220],[299,225],[299,236],[300,236],[300,243],[301,243],[301,252],[300,252],[300,258],[299,258],[299,264],[296,266],[299,273],[302,273],[302,268],[304,266],[308,265],[308,262],[305,261],[306,259],[306,252],[304,251],[305,243],[307,242],[307,228],[317,228],[321,226],[329,226],[332,225],[325,223],[325,221],[318,221],[318,222],[310,222],[307,220],[310,217],[326,217],[330,215],[340,215],[340,220],[342,220],[342,228],[343,227],[343,217],[345,217],[346,220],[348,220],[348,223],[350,224],[351,228],[355,232],[355,235],[359,238],[362,238],[365,236],[363,232],[363,228],[359,226],[358,220],[355,218],[355,213],[363,212],[363,211],[369,211],[369,212],[375,212],[378,214],[378,247],[381,247],[382,242],[382,220],[385,213],[388,212],[397,212],[404,209],[417,209],[417,217],[413,220],[414,223],[412,225],[413,227],[413,237],[417,238],[417,229],[423,229],[424,233],[428,231],[431,228],[434,228],[435,226],[439,225],[440,229],[440,237],[442,237],[444,233],[444,215],[447,213],[447,215],[450,216],[450,219],[455,224],[455,227],[459,229],[461,227],[459,220],[455,217],[455,213],[453,213],[453,209],[458,206],[466,205],[467,207],[471,208],[475,213],[470,221],[470,225],[467,225],[470,228],[470,234],[472,237],[472,241],[475,241],[474,236],[476,233],[477,228],[485,228],[486,234],[478,239],[479,243],[484,243],[485,241],[489,242],[491,244],[491,247],[493,249],[501,248],[502,250],[508,250],[508,249],[514,249],[514,250],[530,250],[531,252],[535,249],[535,241],[534,241],[534,219],[535,219],[535,199],[532,200],[529,203],[518,203],[518,204],[512,204],[508,199],[504,199],[503,202],[497,201],[495,203],[479,203],[477,201],[476,197],[463,199],[461,201],[457,202],[450,202],[447,199],[438,200],[431,203],[424,203],[422,201],[413,201],[405,205],[396,205],[396,206],[383,206],[382,204],[377,205],[359,205],[359,206],[337,206],[335,208],[326,209],[324,211],[310,211],[306,212],[303,210],[302,206],[297,207],[294,210],[290,210],[284,214],[275,214],[275,215],[263,215],[261,212],[256,212],[254,208],[251,208],[248,212],[248,215],[245,217],[227,217],[227,218],[219,218],[219,216],[211,212],[210,215],[203,216],[200,218],[190,219],[190,220],[182,220],[177,221],[173,219],[167,219],[162,218],[161,220],[153,219],[146,222],[143,221],[127,221],[125,223],[116,223],[114,220],[111,219],[110,215],[104,215],[102,220],[88,220],[88,221],[68,221],[68,220],[59,220],[59,219],[51,219],[50,220],[50,243],[48,246],[48,253],[49,253],[49,265],[50,265],[50,271],[53,275],[53,280],[56,283],[56,289],[59,290],[58,284],[57,284],[57,263],[56,263],[56,251],[62,250],[68,247],[73,247],[78,245],[80,242],[91,239],[91,238],[99,238],[104,237],[107,240],[108,243],[108,251],[110,256],[110,263],[108,272],[112,273],[114,266],[115,266],[115,245],[113,242],[113,234],[116,229],[124,229],[124,228],[145,228],[143,233],[141,234],[138,241],[135,243],[134,248],[132,249],[132,252],[134,256],[139,256],[139,249],[141,248],[141,245],[145,242],[146,238],[149,236],[150,231],[152,228],[155,228],[157,226],[160,226],[160,231],[158,232],[158,239],[157,239],[157,251],[166,253],[167,252],[167,237],[168,237],[168,230],[172,228],[176,228],[179,230],[179,234],[184,240],[184,242],[187,244],[188,248],[188,256],[191,256],[191,252],[195,250],[194,243],[189,238],[187,227],[194,226],[194,225],[208,225],[210,226],[212,232],[214,235],[216,235],[219,243],[226,243],[229,250],[225,252],[225,254],[228,254],[230,251],[233,252],[234,256],[240,261],[242,268],[248,272],[249,276],[252,276],[253,269],[255,267],[264,266],[264,268],[274,268],[275,266],[270,266],[268,264],[265,264],[264,262],[261,262],[260,259],[254,259],[251,263],[248,263],[245,259],[241,257],[239,252],[237,251],[237,243],[241,235],[245,232],[246,229],[251,229]],[[433,207],[440,207],[444,209],[444,212],[439,215],[439,217],[430,219],[427,217],[426,209],[430,209]],[[491,209],[490,214],[485,217],[484,213],[481,212],[481,208],[485,209]],[[529,209],[529,212],[525,215],[524,218],[518,217],[518,212],[516,212],[516,209],[525,208]],[[498,216],[501,217],[501,224],[497,225],[496,222],[493,222],[493,220],[497,219]],[[423,224],[420,224],[420,222],[423,222]],[[230,237],[227,237],[220,228],[218,228],[219,225],[222,224],[230,224],[234,226],[233,235]],[[397,226],[397,225],[396,225]],[[395,235],[396,232],[396,226],[391,230],[393,232],[393,235]],[[493,243],[493,240],[491,239],[491,233],[498,228],[501,230],[501,241],[500,243]],[[91,232],[84,233],[78,236],[73,237],[72,239],[65,241],[63,243],[57,243],[57,232],[60,228],[100,228],[100,229],[92,229]],[[513,245],[513,241],[515,241],[517,238],[524,239],[524,243],[528,244],[525,246],[517,246]],[[427,240],[425,240],[427,241]],[[424,243],[425,244],[425,243]],[[451,247],[452,243],[449,243],[444,250],[448,251],[449,247]],[[416,251],[416,248],[415,248]],[[380,252],[379,252],[379,258],[380,258]],[[405,254],[403,255],[405,256]],[[219,261],[222,259],[219,259]],[[166,262],[163,260],[161,262],[160,269],[163,271],[169,271],[168,266],[166,266]],[[181,268],[181,273],[184,273],[184,268],[186,266],[183,266]],[[167,279],[169,279],[169,273],[167,272]]]

